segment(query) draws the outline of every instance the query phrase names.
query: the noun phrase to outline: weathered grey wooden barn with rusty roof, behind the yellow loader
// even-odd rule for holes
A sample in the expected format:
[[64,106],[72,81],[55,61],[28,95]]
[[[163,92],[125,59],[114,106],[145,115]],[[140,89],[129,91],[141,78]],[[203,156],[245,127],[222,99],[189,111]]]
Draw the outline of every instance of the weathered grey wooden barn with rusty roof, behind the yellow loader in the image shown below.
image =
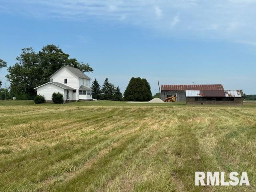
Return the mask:
[[222,84],[161,85],[161,99],[176,95],[176,101],[186,101],[186,90],[224,90],[224,88]]

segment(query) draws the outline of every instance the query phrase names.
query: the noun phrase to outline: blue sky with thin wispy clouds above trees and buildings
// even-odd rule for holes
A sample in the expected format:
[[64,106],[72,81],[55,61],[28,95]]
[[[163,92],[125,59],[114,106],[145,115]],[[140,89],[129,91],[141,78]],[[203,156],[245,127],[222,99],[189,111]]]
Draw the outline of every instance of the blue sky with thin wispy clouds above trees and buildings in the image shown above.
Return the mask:
[[55,44],[122,92],[141,77],[153,94],[158,80],[256,94],[255,10],[256,0],[0,0],[0,58],[12,66],[22,48]]

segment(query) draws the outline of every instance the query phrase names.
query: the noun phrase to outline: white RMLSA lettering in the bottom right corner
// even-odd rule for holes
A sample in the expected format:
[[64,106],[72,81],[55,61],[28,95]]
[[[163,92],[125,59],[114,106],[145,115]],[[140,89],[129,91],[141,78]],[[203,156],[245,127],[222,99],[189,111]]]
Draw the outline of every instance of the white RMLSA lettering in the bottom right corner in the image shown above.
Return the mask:
[[205,173],[204,172],[195,172],[195,184],[199,186],[199,182],[202,186],[210,186],[210,185],[217,185],[217,186],[236,186],[236,185],[243,185],[246,184],[249,186],[249,180],[246,172],[242,172],[239,181],[239,174],[237,172],[230,172],[229,174],[229,181],[225,181],[225,172],[206,172],[206,184],[204,183]]

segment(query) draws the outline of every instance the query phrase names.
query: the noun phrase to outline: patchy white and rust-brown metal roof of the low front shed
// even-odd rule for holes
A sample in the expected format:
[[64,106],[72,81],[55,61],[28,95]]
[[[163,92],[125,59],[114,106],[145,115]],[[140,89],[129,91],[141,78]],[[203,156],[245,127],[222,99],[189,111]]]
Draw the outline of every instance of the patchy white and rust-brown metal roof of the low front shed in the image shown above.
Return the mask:
[[242,90],[186,90],[186,97],[243,97]]

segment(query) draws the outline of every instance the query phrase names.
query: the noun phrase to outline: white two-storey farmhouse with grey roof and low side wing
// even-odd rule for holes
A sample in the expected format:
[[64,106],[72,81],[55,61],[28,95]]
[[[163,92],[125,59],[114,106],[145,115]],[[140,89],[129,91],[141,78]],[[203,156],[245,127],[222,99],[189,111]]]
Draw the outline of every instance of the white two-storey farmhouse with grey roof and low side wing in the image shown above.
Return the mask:
[[34,90],[37,95],[43,95],[46,102],[52,101],[54,92],[62,93],[64,101],[92,100],[90,80],[91,78],[79,69],[64,65],[50,76],[50,82]]

